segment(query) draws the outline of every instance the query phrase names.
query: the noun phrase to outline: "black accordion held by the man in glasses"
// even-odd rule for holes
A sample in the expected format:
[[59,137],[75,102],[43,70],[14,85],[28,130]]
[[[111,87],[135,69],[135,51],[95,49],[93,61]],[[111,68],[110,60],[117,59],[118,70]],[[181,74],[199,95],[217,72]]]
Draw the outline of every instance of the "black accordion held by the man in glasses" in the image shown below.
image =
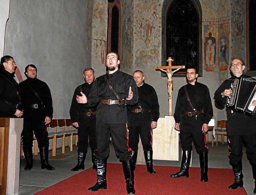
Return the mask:
[[227,106],[244,114],[255,114],[256,80],[253,78],[237,78],[231,84],[231,95],[227,98]]

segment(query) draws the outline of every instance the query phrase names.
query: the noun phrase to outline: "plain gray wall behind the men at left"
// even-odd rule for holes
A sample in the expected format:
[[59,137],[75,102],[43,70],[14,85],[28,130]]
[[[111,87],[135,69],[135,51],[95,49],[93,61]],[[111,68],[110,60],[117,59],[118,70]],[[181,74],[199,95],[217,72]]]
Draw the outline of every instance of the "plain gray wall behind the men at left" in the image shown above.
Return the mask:
[[70,118],[74,89],[84,82],[84,68],[91,67],[92,8],[87,2],[10,1],[4,55],[14,57],[23,79],[26,65],[36,65],[38,79],[51,89],[53,118]]

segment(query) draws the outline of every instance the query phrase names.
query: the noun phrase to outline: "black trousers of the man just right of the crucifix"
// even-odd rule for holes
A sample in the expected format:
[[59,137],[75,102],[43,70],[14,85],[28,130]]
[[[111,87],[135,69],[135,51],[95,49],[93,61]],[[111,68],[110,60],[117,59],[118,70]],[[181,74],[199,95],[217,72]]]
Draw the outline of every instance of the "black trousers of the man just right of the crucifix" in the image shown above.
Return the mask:
[[208,147],[206,145],[206,134],[202,132],[189,132],[180,131],[181,148],[183,151],[192,151],[192,141],[196,147],[196,151],[208,152]]

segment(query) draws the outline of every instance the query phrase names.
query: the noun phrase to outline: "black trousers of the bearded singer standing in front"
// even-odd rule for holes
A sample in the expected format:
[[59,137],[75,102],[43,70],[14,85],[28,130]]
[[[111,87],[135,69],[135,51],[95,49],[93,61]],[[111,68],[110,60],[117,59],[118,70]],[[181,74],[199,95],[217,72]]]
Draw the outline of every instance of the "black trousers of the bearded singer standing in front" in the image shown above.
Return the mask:
[[132,151],[128,146],[126,124],[97,123],[96,124],[96,158],[105,159],[109,155],[110,134],[113,140],[116,155],[120,160],[130,160]]

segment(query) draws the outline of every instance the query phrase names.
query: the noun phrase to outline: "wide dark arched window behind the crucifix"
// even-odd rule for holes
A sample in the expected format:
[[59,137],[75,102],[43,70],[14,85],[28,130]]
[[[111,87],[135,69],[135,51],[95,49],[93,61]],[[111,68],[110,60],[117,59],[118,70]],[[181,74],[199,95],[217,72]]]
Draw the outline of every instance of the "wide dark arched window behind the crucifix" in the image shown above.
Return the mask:
[[[197,0],[166,0],[163,10],[165,19],[164,59],[172,57],[172,65],[190,65],[202,76],[202,9]],[[200,9],[200,12],[198,11]],[[163,61],[164,61],[163,59]],[[167,65],[167,62],[166,62]],[[175,74],[185,75],[184,69]],[[174,76],[175,76],[174,75]]]

